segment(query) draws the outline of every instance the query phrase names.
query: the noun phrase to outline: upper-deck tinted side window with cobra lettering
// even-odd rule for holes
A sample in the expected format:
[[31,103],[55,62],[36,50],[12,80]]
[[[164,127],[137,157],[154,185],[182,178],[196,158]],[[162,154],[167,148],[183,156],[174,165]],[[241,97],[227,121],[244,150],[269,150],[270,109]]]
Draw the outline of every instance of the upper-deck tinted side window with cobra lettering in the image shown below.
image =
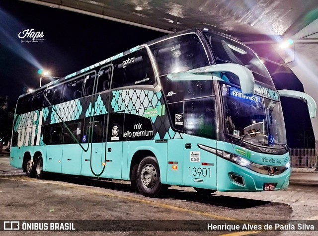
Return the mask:
[[114,62],[111,88],[154,83],[154,71],[146,49],[140,49]]

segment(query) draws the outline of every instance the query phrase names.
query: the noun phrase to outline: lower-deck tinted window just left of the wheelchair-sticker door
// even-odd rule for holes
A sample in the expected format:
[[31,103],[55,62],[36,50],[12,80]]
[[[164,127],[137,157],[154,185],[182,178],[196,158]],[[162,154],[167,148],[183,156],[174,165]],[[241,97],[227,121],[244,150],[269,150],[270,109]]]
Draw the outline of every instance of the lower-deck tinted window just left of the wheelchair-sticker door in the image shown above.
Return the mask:
[[[62,144],[77,144],[81,140],[81,134],[82,134],[82,121],[69,121],[65,122],[67,127],[70,129],[70,131],[67,129],[65,125],[63,125],[63,134],[62,134]],[[78,141],[78,142],[77,142]]]

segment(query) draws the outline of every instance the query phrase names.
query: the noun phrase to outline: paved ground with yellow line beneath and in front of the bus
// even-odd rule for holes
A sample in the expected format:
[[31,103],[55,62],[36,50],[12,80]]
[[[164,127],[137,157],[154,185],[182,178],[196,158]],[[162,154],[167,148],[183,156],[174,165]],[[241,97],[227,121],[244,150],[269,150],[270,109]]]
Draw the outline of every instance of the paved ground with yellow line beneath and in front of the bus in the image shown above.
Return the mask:
[[[311,173],[293,173],[292,179]],[[317,173],[315,177],[317,177]],[[315,182],[313,182],[315,183]],[[318,183],[318,182],[317,182]],[[28,178],[0,157],[0,220],[318,220],[318,185],[291,184],[287,190],[198,195],[192,188],[170,187],[166,197],[145,198],[129,182],[83,180],[53,175]],[[123,222],[122,224],[125,224]],[[127,224],[127,222],[126,222]],[[149,224],[149,223],[148,223]],[[176,223],[177,224],[177,223]],[[125,225],[122,225],[124,227]],[[0,235],[3,232],[0,232]],[[34,235],[34,232],[5,232]],[[23,234],[22,234],[23,233]],[[38,232],[37,235],[101,235],[100,232]],[[103,235],[318,235],[316,232],[116,232]]]

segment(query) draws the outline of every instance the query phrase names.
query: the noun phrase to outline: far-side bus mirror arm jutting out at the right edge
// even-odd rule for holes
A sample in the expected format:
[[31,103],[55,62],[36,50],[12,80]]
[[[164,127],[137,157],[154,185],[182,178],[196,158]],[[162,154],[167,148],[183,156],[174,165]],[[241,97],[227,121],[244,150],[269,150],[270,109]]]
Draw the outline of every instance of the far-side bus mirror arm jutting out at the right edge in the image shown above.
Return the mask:
[[300,92],[300,91],[294,91],[294,90],[277,90],[279,95],[281,97],[292,97],[302,100],[303,102],[307,103],[309,115],[310,118],[316,117],[316,110],[317,110],[317,104],[314,98],[312,98],[310,95]]

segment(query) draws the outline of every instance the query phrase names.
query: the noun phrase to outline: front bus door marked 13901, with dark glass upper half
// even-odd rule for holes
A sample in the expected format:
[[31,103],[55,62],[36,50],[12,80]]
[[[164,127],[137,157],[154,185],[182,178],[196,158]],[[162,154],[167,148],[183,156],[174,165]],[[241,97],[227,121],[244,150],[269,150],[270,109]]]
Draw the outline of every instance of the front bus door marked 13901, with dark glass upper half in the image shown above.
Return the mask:
[[217,189],[214,96],[184,101],[183,185]]

